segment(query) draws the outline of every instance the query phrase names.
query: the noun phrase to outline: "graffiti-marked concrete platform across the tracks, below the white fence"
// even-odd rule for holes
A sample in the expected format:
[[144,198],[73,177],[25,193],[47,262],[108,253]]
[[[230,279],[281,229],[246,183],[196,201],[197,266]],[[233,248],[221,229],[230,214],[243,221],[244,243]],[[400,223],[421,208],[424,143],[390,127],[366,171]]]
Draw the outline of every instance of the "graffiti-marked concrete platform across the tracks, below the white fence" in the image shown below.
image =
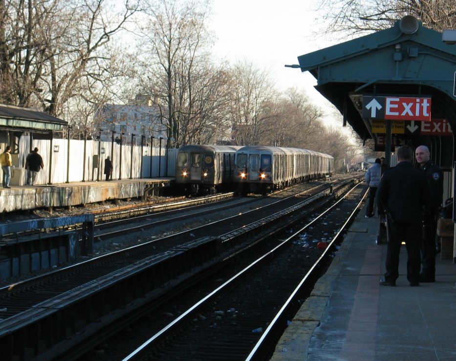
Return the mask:
[[143,198],[170,187],[173,177],[113,179],[0,188],[0,212],[72,207],[109,199]]

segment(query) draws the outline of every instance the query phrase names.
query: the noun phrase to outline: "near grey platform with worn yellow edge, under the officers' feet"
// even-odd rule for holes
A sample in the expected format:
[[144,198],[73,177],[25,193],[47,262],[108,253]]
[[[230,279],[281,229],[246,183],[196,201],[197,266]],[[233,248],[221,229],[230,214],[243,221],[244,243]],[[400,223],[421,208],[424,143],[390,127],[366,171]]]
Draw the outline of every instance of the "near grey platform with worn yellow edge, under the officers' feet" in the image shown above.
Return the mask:
[[401,247],[396,286],[381,286],[378,217],[359,212],[328,271],[271,360],[456,360],[456,264],[436,256],[436,281],[411,287]]

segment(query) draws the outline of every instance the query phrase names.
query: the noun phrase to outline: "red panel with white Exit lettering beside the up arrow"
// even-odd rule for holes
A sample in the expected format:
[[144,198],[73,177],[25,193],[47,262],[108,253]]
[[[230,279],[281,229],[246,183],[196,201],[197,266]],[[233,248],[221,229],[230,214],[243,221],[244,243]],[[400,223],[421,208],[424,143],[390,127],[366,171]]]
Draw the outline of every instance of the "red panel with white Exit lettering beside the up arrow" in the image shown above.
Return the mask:
[[387,97],[385,119],[431,121],[431,98]]

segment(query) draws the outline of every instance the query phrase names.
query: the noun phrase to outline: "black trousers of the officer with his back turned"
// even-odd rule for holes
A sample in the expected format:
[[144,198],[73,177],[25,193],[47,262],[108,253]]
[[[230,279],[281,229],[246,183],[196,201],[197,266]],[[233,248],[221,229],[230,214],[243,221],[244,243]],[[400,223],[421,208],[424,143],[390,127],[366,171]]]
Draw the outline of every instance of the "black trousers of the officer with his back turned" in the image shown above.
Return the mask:
[[409,282],[418,282],[421,268],[421,222],[390,222],[389,224],[391,238],[386,256],[385,280],[394,282],[399,277],[399,253],[401,242],[405,241],[407,247],[407,279]]

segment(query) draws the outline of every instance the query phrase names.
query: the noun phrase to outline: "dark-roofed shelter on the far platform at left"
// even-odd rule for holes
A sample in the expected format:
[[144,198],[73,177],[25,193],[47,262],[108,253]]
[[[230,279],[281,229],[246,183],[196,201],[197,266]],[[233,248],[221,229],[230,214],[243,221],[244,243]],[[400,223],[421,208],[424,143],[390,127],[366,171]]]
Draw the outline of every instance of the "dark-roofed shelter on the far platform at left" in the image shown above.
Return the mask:
[[[35,109],[18,106],[0,105],[0,152],[6,146],[11,146],[11,157],[14,167],[19,167],[19,139],[24,135],[30,135],[30,151],[33,139],[50,140],[49,159],[49,182],[51,179],[52,165],[52,139],[54,131],[63,131],[68,123],[62,119],[46,114]],[[17,169],[17,177],[23,177],[24,169]]]

